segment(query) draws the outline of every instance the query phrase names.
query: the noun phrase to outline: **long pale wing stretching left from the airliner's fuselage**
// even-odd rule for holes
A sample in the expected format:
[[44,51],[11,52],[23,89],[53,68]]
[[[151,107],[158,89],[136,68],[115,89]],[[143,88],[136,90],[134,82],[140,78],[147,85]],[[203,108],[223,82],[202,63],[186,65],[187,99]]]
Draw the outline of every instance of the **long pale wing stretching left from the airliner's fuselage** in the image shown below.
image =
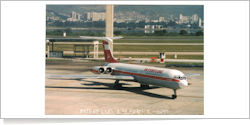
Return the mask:
[[48,75],[47,78],[134,80],[133,76],[125,75]]

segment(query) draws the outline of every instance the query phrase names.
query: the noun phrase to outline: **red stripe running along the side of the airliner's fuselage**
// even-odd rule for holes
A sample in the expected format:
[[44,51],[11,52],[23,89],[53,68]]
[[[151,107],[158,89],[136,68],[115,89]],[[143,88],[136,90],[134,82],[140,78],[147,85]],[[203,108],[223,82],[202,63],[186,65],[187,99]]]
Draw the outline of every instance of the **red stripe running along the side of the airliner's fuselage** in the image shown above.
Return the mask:
[[125,71],[119,71],[119,70],[114,70],[114,72],[119,72],[119,73],[128,74],[128,75],[141,76],[141,77],[148,77],[148,78],[152,78],[152,79],[159,79],[159,80],[180,82],[180,80],[178,80],[178,79],[164,78],[164,77],[159,77],[159,76],[145,75],[145,74],[132,73],[132,72],[125,72]]

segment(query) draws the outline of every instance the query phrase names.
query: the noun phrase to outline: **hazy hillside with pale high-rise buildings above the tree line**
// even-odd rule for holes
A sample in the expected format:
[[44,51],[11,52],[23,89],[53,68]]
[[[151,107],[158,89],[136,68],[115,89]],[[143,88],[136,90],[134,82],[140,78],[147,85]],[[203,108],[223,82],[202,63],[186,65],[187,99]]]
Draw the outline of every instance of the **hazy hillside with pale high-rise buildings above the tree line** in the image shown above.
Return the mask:
[[[122,22],[170,22],[177,21],[177,23],[194,23],[199,20],[203,21],[203,6],[194,6],[197,7],[195,11],[189,12],[191,10],[190,6],[182,5],[182,6],[159,6],[159,8],[155,8],[156,6],[147,6],[148,9],[142,9],[144,5],[141,6],[116,6],[114,13],[114,22],[122,23]],[[70,7],[70,8],[69,8]],[[93,9],[93,8],[95,9]],[[157,6],[158,7],[158,6]],[[178,9],[182,7],[183,9]],[[193,6],[192,6],[193,7]],[[64,11],[60,11],[62,8]],[[166,9],[168,8],[168,9]],[[47,20],[61,20],[61,21],[104,21],[105,20],[105,9],[100,5],[92,5],[92,6],[71,6],[71,5],[47,5]],[[137,10],[137,11],[135,11]],[[143,10],[143,11],[142,11]],[[170,13],[169,11],[173,11],[172,14],[164,14]],[[185,10],[185,11],[184,11]],[[78,12],[77,12],[78,11]],[[76,12],[80,19],[74,19],[74,16],[69,13]],[[150,15],[150,13],[156,13]],[[201,14],[202,13],[202,14]],[[67,19],[65,19],[67,18]],[[68,19],[72,18],[72,19]],[[200,19],[199,19],[200,18]]]

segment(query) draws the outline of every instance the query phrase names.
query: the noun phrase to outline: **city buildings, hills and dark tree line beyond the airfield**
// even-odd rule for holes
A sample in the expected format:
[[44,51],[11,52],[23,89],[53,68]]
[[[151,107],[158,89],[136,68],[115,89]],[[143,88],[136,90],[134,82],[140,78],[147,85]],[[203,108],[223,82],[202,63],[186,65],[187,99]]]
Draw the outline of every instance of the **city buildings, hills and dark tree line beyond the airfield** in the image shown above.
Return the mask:
[[[48,33],[53,33],[52,27],[104,28],[104,7],[47,5]],[[203,31],[203,5],[115,5],[113,20],[116,34],[176,34],[183,29],[189,34],[196,34]],[[101,29],[91,32],[102,34]]]

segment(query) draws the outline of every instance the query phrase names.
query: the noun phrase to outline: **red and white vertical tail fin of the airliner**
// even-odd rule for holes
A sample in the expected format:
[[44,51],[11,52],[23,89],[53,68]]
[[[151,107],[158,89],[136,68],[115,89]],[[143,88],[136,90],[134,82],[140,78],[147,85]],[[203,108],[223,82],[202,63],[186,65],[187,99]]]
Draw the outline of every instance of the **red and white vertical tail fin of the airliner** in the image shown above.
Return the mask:
[[109,42],[102,40],[102,43],[103,43],[105,62],[117,63],[117,60],[114,59],[113,53],[110,50]]

